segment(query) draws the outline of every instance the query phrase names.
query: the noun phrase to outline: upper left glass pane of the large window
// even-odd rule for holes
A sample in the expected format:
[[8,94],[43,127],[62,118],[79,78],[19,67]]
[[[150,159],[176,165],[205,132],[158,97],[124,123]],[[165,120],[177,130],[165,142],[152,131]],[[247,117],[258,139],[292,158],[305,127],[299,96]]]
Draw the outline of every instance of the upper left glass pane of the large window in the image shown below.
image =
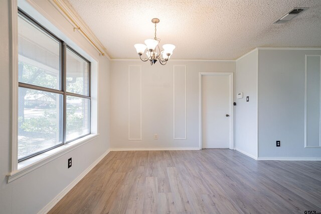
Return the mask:
[[18,47],[19,82],[61,90],[59,41],[19,15]]

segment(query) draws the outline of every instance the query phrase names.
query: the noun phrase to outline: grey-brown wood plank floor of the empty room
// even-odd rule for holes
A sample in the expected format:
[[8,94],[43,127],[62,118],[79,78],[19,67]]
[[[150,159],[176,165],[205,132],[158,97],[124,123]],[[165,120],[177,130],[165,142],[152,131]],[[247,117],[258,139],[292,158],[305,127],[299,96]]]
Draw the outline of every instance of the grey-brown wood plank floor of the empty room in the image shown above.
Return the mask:
[[237,151],[112,151],[49,213],[321,212],[321,161]]

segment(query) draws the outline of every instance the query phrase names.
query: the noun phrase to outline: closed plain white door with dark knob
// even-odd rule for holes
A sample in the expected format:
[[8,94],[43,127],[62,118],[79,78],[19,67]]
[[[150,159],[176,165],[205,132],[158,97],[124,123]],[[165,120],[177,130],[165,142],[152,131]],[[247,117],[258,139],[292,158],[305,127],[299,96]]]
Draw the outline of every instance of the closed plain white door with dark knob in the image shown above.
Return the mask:
[[202,76],[202,148],[229,148],[229,76]]

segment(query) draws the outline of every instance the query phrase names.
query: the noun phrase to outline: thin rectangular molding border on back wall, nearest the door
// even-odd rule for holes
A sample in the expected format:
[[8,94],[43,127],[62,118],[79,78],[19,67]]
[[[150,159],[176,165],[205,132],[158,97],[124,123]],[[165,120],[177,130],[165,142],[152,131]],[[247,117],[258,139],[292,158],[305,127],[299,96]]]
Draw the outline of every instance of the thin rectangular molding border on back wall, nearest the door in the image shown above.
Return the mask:
[[[176,130],[175,130],[175,126],[176,126],[176,106],[175,103],[176,103],[176,78],[175,78],[175,75],[176,75],[176,72],[178,72],[175,68],[176,67],[184,67],[184,109],[181,109],[181,110],[184,110],[184,136],[183,137],[176,137]],[[174,133],[174,140],[186,140],[187,139],[187,94],[186,94],[186,65],[174,65],[174,72],[173,72],[173,133]]]

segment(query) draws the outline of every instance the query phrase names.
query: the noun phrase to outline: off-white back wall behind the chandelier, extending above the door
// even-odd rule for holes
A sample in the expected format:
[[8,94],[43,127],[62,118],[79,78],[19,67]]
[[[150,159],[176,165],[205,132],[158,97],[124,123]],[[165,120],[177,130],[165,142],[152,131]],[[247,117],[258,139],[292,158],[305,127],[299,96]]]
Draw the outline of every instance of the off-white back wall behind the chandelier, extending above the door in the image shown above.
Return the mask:
[[[138,56],[137,56],[138,57]],[[136,67],[135,67],[136,66]],[[137,67],[138,66],[138,67]],[[110,147],[126,148],[199,148],[199,72],[235,72],[235,62],[169,61],[150,66],[141,61],[111,61],[111,141]],[[184,73],[186,68],[186,73]],[[130,79],[128,71],[130,70]],[[139,78],[141,72],[141,98]],[[176,75],[174,84],[174,74]],[[186,74],[186,136],[174,140],[174,101],[176,138],[185,134]],[[130,85],[128,86],[128,80]],[[135,88],[133,88],[135,86]],[[176,90],[174,100],[174,86]],[[128,100],[128,87],[131,97]],[[132,93],[132,90],[136,90]],[[141,106],[140,106],[141,100]],[[136,102],[135,102],[136,101]],[[130,102],[130,108],[128,108]],[[141,107],[141,135],[140,135]],[[138,117],[128,115],[138,114]],[[130,130],[128,130],[130,124]],[[128,134],[141,140],[128,140]],[[158,134],[158,140],[153,134]]]

